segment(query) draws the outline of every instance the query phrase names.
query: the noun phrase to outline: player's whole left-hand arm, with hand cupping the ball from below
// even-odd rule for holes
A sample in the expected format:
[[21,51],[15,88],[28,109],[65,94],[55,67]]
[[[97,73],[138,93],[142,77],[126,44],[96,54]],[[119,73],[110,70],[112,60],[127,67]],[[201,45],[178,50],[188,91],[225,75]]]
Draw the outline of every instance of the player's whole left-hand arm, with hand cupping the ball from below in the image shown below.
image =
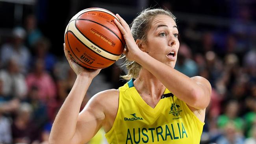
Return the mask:
[[86,70],[74,63],[65,45],[64,52],[77,78],[54,120],[49,142],[50,144],[83,144],[95,135],[105,118],[102,107],[95,106],[98,102],[97,96],[90,100],[79,114],[85,93],[100,70]]

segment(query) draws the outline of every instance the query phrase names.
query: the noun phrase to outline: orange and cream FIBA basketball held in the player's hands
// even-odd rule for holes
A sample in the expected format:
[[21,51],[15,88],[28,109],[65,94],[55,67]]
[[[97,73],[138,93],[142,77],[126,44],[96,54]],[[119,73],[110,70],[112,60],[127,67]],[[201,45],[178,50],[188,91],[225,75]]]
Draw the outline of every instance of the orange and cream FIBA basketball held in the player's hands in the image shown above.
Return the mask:
[[84,68],[106,68],[119,59],[125,41],[111,11],[88,8],[71,18],[65,30],[69,55]]

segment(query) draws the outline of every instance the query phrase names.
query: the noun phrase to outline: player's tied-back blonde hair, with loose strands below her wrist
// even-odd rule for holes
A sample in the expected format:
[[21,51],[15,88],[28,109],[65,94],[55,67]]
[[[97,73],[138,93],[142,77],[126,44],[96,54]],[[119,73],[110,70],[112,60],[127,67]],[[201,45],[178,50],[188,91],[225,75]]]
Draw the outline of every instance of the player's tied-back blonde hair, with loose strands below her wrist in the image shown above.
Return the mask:
[[[176,22],[176,17],[167,9],[157,8],[157,9],[144,9],[139,15],[133,20],[131,26],[131,33],[134,40],[140,39],[140,44],[147,42],[147,32],[150,30],[151,22],[157,15],[167,15]],[[130,61],[126,59],[124,65],[128,73],[121,78],[129,80],[132,78],[137,78],[139,71],[141,70],[141,65],[135,61]]]

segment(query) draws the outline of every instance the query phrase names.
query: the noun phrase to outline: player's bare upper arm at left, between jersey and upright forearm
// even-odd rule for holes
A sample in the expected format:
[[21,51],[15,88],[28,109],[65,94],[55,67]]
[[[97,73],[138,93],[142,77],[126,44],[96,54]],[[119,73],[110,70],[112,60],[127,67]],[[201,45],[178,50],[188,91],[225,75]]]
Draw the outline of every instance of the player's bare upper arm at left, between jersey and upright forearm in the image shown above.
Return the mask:
[[76,132],[72,138],[72,144],[84,144],[88,142],[102,127],[105,119],[102,106],[97,98],[92,98],[82,112],[79,113],[76,123]]

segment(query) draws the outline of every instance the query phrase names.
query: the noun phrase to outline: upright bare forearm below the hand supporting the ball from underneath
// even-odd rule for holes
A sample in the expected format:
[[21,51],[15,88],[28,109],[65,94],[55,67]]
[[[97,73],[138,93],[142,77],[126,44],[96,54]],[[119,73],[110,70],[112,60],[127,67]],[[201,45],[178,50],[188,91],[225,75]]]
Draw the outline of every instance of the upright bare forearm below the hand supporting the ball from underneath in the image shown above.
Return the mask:
[[91,80],[91,78],[84,76],[76,78],[74,86],[54,120],[49,138],[51,144],[69,143],[74,137],[80,106]]

